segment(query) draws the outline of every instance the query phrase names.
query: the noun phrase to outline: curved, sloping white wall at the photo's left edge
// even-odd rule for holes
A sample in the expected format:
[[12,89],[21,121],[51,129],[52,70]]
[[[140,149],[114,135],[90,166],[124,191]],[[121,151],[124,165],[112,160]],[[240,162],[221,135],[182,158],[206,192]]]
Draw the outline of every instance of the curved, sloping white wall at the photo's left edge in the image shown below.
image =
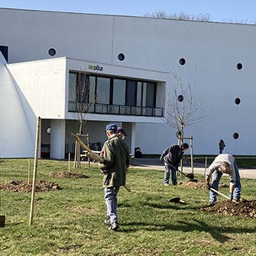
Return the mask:
[[[36,129],[31,130],[18,86],[0,53],[0,157],[34,157]],[[35,115],[31,122],[37,122]]]

